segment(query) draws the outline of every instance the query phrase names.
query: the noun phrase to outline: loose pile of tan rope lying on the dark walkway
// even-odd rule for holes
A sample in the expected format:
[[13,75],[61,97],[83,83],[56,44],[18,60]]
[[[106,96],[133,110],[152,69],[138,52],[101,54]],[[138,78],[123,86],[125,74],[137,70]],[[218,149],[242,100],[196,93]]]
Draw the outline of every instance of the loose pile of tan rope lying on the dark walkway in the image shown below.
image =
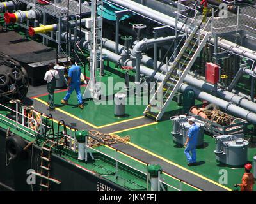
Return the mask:
[[107,133],[100,133],[97,130],[90,130],[89,133],[94,137],[94,138],[89,138],[88,140],[88,145],[90,147],[97,147],[100,145],[112,145],[115,143],[120,143],[120,142],[128,142],[130,141],[130,136],[126,135],[124,138],[118,136],[118,135],[109,135]]

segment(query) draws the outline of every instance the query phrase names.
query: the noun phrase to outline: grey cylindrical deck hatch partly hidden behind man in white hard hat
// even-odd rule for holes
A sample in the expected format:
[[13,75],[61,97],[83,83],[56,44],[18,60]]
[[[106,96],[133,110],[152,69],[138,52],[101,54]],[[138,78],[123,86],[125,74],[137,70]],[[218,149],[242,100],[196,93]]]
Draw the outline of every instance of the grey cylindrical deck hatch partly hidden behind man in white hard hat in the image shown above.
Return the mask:
[[[184,145],[188,135],[188,129],[191,127],[188,123],[186,115],[178,115],[171,117],[172,120],[172,136],[173,142],[179,145]],[[200,147],[204,144],[204,122],[200,120],[200,117],[195,117],[195,124],[199,126],[199,134],[197,138],[196,147]]]

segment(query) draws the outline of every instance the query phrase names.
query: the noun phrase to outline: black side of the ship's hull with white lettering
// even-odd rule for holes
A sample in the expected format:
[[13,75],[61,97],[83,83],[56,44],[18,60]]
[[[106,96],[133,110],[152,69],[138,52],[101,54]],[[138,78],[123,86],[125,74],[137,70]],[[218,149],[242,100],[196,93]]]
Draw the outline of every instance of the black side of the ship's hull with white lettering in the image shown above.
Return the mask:
[[[28,141],[26,141],[28,143]],[[0,128],[0,191],[39,191],[40,177],[35,184],[28,184],[28,170],[38,172],[41,149],[33,145],[22,161],[6,161],[6,130]],[[6,165],[6,163],[8,165]],[[28,173],[28,174],[27,174]],[[127,191],[124,187],[100,177],[90,170],[52,153],[51,177],[60,184],[51,182],[50,191]]]

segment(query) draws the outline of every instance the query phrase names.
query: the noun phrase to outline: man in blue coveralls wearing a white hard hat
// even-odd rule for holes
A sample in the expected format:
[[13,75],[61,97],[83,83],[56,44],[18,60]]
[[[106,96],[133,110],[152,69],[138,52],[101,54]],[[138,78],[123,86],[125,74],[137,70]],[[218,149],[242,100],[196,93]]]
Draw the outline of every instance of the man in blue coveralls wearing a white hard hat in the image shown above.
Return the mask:
[[[195,166],[196,165],[196,143],[199,133],[199,126],[195,124],[195,118],[191,117],[188,119],[189,124],[191,127],[188,129],[188,137],[186,142],[184,143],[185,148],[185,155],[188,159],[188,166]],[[192,156],[190,155],[190,152]]]

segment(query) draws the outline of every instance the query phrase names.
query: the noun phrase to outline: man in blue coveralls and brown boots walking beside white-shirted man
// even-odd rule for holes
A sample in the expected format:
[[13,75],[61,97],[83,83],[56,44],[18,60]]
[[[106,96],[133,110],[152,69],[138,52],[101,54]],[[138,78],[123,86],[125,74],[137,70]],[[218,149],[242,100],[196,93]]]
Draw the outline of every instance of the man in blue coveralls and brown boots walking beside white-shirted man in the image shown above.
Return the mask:
[[70,98],[70,95],[72,92],[76,91],[77,94],[77,101],[79,103],[78,107],[83,109],[83,99],[81,95],[81,90],[80,90],[80,76],[81,76],[81,68],[80,66],[76,65],[76,62],[74,59],[70,59],[70,65],[71,67],[68,69],[68,91],[64,99],[61,100],[61,103],[64,105],[68,105],[68,99]]

